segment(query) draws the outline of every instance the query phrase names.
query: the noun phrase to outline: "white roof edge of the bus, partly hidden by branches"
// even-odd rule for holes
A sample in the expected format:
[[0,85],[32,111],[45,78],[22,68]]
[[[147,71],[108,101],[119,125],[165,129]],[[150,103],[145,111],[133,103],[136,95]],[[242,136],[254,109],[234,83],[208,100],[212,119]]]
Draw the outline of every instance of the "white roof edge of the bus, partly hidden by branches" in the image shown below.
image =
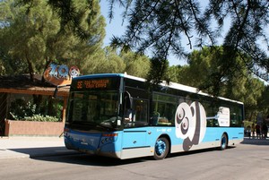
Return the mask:
[[[102,78],[102,77],[124,77],[124,78],[128,78],[128,79],[136,80],[136,81],[146,81],[143,78],[139,78],[139,77],[136,77],[133,75],[128,75],[126,73],[96,73],[96,74],[78,76],[78,77],[75,77],[74,80],[82,80],[82,79],[88,79],[88,78]],[[210,94],[204,93],[202,90],[199,90],[199,89],[191,87],[191,86],[179,84],[177,82],[169,82],[168,83],[167,81],[162,81],[161,86],[169,87],[169,88],[176,89],[176,90],[184,90],[187,92],[196,93],[196,94],[200,94],[203,96],[213,97]],[[223,100],[227,100],[227,101],[231,101],[231,102],[235,102],[235,103],[239,103],[239,104],[243,105],[242,102],[237,101],[237,100],[233,100],[233,99],[226,99],[226,98],[222,98],[222,97],[218,97],[218,99],[223,99]]]

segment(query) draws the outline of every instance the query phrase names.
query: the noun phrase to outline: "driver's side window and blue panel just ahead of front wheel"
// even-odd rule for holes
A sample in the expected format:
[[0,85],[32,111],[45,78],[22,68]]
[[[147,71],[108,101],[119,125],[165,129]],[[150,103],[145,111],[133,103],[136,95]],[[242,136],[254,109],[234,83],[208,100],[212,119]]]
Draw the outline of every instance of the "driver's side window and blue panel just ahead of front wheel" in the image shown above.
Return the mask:
[[146,99],[133,99],[130,109],[125,112],[125,129],[123,131],[123,150],[143,149],[149,147],[148,125],[149,101]]

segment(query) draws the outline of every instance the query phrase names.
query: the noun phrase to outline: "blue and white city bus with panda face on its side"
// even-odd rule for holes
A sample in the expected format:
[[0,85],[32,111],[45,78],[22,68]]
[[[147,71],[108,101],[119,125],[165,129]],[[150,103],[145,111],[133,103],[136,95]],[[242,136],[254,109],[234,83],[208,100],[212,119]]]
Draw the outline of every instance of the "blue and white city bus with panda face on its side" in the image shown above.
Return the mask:
[[153,86],[123,73],[72,80],[65,146],[100,156],[132,159],[218,147],[243,141],[243,103],[195,88]]

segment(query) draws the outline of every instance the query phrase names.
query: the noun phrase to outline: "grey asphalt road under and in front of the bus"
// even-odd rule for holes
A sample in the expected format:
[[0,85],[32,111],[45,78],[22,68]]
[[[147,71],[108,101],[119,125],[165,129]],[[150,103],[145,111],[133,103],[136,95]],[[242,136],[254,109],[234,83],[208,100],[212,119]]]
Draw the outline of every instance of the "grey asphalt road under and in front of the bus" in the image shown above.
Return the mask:
[[85,154],[0,159],[0,179],[269,179],[269,140],[245,140],[228,150],[196,150],[164,160],[106,159]]

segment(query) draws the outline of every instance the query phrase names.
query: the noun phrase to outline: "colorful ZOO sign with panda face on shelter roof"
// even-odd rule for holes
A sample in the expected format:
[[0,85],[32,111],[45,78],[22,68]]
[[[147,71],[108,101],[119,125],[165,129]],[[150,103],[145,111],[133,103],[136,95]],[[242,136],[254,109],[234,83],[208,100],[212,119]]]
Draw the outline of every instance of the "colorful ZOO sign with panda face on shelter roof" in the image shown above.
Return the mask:
[[48,68],[44,72],[43,76],[46,81],[53,85],[65,85],[71,84],[71,80],[74,77],[80,75],[80,70],[76,66],[70,68],[65,65],[49,64]]

